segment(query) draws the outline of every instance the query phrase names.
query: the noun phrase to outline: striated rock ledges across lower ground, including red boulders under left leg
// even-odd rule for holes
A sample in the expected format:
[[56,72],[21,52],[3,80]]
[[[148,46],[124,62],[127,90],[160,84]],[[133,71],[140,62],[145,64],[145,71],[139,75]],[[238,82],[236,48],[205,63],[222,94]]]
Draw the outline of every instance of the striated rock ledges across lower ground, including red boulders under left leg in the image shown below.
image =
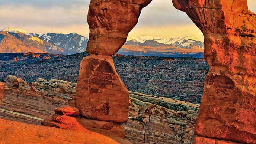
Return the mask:
[[[72,107],[72,101],[76,98],[75,83],[38,79],[28,84],[18,79],[8,76],[5,82],[0,82],[0,89],[1,86],[3,88],[3,91],[0,91],[0,118],[31,124],[40,124],[43,121],[44,125],[71,131],[84,131],[86,128],[108,137],[114,135],[122,139],[125,136],[135,144],[192,143],[193,129],[199,111],[197,104],[130,92],[128,121],[121,125],[77,117],[78,111]],[[20,81],[18,90],[11,85],[17,85],[17,81]],[[38,90],[34,91],[32,85]],[[55,88],[49,85],[55,85]],[[66,92],[60,91],[68,86],[70,89]],[[71,106],[68,106],[68,103]]]

